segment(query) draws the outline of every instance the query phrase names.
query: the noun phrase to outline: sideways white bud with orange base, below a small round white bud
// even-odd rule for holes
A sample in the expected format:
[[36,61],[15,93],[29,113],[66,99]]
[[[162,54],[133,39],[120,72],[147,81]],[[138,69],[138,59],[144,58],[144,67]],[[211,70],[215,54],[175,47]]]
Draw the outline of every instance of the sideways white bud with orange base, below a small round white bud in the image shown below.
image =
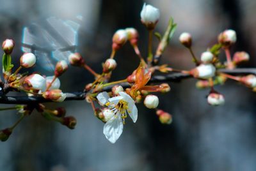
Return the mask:
[[212,64],[200,64],[195,69],[190,71],[190,74],[195,78],[211,78],[215,75],[216,68]]

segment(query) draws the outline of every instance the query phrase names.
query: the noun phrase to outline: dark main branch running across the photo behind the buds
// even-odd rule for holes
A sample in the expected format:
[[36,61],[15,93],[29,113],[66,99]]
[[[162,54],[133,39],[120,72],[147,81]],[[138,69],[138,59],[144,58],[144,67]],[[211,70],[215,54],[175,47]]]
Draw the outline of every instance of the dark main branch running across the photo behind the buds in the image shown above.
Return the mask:
[[[248,75],[253,74],[256,75],[256,68],[237,68],[234,70],[226,70],[221,69],[218,70],[219,72],[228,73],[230,75]],[[169,73],[167,75],[155,75],[150,79],[149,83],[156,83],[156,82],[180,82],[185,78],[192,78],[191,75],[184,74],[184,73]],[[129,87],[128,83],[120,84],[124,88]],[[111,91],[112,86],[105,87],[103,91]],[[84,100],[87,92],[74,92],[74,93],[66,93],[67,98],[65,101],[69,100]],[[31,103],[45,103],[45,102],[53,102],[51,100],[45,100],[45,98],[41,96],[2,96],[0,97],[0,103],[4,104],[31,104]]]

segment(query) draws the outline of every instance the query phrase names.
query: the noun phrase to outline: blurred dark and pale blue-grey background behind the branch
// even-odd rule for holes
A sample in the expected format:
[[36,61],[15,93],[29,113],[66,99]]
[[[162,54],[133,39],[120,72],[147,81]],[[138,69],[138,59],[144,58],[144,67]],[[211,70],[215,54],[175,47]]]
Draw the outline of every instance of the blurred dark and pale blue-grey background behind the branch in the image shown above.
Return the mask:
[[[79,30],[78,51],[95,71],[111,53],[111,37],[116,29],[135,27],[140,33],[140,48],[147,52],[147,30],[140,22],[143,3],[161,11],[156,30],[163,33],[173,17],[178,27],[162,62],[174,68],[193,67],[191,56],[179,43],[179,34],[193,35],[193,48],[200,56],[216,43],[225,29],[237,32],[232,53],[244,50],[256,66],[256,1],[253,0],[0,0],[0,41],[15,40],[13,61],[19,62],[22,29],[32,22],[58,17],[74,19],[83,16]],[[155,39],[154,47],[157,46]],[[221,59],[225,59],[221,54]],[[116,55],[118,68],[113,80],[126,77],[138,66],[138,57],[127,44]],[[17,65],[16,65],[17,66]],[[50,74],[36,66],[34,70]],[[24,71],[24,70],[23,70]],[[74,76],[75,75],[75,76]],[[70,67],[60,77],[63,91],[79,91],[92,82],[86,71]],[[228,81],[216,90],[225,94],[226,104],[207,104],[208,90],[195,88],[195,80],[170,83],[172,91],[159,95],[159,108],[173,115],[171,125],[159,123],[154,110],[138,105],[136,124],[128,121],[115,144],[104,137],[104,124],[95,118],[86,101],[51,103],[49,107],[66,107],[77,119],[75,130],[45,119],[33,112],[19,124],[7,142],[0,144],[0,170],[256,170],[255,94],[250,89]],[[6,105],[1,105],[1,107]],[[0,128],[13,124],[15,112],[1,112]]]

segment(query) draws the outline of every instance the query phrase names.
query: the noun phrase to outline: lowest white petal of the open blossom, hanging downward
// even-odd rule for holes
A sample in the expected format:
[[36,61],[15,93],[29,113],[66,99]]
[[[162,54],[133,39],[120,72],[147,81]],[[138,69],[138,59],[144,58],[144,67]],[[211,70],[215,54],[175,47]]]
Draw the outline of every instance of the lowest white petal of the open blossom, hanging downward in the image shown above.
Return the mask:
[[114,116],[103,128],[103,133],[111,143],[115,143],[123,132],[124,125],[120,116]]

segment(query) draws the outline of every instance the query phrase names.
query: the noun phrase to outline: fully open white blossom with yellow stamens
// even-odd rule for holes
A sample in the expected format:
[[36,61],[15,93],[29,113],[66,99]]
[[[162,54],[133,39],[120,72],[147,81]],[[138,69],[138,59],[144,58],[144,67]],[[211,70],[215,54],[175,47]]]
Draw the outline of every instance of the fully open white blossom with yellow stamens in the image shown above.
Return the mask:
[[120,92],[120,96],[109,98],[108,93],[99,93],[97,100],[100,104],[108,106],[115,115],[104,125],[103,133],[111,143],[115,143],[124,128],[127,113],[135,123],[138,119],[138,109],[134,100],[127,93]]

